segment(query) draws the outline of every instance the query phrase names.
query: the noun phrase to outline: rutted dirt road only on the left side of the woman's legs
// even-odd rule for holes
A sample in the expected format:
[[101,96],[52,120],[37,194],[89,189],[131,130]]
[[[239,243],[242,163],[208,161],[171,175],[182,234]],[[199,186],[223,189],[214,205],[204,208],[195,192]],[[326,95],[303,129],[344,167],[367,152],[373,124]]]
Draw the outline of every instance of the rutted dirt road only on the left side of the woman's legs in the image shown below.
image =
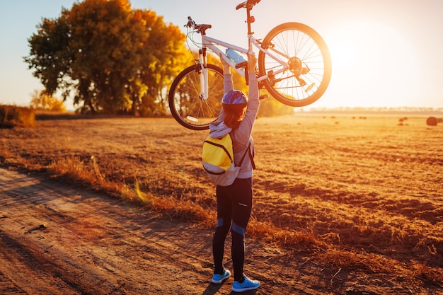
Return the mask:
[[0,294],[217,291],[209,233],[15,171],[0,183]]

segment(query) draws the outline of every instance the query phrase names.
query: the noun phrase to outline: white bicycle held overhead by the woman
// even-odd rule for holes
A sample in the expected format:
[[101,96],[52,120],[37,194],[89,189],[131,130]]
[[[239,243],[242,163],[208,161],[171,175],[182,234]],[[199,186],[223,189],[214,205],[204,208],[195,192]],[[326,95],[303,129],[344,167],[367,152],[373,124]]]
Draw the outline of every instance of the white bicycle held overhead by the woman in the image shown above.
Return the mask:
[[[188,37],[200,33],[199,58],[176,76],[168,94],[171,114],[180,125],[188,129],[204,130],[216,120],[222,108],[223,71],[214,64],[207,64],[208,50],[217,54],[238,74],[247,80],[247,62],[243,54],[258,52],[259,88],[284,105],[303,107],[314,103],[328,87],[332,65],[326,42],[308,25],[282,23],[270,30],[262,40],[253,36],[251,16],[253,6],[260,0],[247,0],[236,10],[246,8],[248,48],[217,40],[206,35],[209,24],[197,24],[188,17]],[[226,49],[222,51],[220,49]],[[248,83],[248,81],[246,81]]]

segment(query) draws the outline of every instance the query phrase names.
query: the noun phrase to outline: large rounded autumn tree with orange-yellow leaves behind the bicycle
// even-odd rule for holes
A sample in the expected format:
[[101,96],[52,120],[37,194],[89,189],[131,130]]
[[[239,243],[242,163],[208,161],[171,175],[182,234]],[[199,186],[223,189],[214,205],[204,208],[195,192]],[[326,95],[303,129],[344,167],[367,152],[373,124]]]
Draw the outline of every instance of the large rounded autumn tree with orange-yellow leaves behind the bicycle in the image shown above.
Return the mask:
[[185,35],[127,0],[86,0],[44,18],[25,57],[52,94],[83,112],[166,112],[166,88],[183,68]]

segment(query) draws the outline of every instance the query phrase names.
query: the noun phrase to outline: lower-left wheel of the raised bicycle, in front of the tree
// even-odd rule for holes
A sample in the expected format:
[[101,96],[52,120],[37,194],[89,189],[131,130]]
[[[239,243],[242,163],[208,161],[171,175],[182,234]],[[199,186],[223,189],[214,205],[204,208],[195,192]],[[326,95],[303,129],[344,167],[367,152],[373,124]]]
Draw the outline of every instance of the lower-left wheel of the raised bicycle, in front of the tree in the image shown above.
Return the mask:
[[192,130],[205,130],[222,109],[223,71],[207,64],[208,98],[201,96],[200,64],[189,66],[178,74],[169,90],[169,109],[180,125]]

